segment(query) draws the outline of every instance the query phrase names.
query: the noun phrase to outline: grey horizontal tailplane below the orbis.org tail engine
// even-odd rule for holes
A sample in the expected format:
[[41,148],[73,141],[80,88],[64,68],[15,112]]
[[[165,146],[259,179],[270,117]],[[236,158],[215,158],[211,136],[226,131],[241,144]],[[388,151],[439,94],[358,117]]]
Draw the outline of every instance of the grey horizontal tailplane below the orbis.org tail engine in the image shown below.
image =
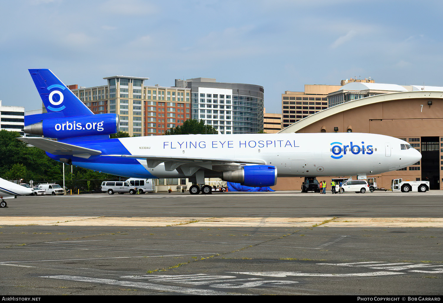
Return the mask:
[[53,155],[74,155],[76,157],[86,159],[89,158],[91,155],[101,155],[101,151],[96,149],[84,148],[81,146],[48,140],[45,138],[21,137],[17,139],[26,142],[27,144],[31,144],[36,148],[41,148]]

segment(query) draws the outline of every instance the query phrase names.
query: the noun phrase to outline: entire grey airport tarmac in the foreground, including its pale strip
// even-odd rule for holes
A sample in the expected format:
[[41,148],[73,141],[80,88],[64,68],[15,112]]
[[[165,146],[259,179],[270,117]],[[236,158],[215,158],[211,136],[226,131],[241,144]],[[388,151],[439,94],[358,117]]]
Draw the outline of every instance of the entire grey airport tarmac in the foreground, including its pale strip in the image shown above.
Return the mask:
[[441,295],[442,194],[9,199],[0,293]]

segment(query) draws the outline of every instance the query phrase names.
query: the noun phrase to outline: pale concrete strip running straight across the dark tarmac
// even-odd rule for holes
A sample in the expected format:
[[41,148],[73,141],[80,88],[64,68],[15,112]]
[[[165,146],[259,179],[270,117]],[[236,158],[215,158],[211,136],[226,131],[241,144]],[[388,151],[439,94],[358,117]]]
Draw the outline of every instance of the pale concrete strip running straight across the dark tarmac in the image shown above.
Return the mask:
[[[328,223],[321,224],[324,221]],[[357,217],[1,217],[0,225],[164,227],[438,227],[443,218]]]

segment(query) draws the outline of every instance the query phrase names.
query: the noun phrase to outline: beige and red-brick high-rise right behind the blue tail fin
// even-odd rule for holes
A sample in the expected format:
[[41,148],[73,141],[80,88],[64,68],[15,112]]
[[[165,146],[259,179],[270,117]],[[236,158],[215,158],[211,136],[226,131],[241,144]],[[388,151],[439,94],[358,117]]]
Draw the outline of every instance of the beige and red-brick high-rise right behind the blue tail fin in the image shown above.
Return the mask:
[[130,136],[154,136],[190,118],[190,89],[145,86],[149,78],[112,76],[107,85],[69,85],[93,113],[117,113],[120,131]]

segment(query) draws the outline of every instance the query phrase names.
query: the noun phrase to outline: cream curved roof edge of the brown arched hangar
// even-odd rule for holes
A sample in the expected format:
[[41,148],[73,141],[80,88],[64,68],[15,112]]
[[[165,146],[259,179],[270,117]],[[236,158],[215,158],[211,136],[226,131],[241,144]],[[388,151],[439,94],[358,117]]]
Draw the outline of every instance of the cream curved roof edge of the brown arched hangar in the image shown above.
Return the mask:
[[[366,83],[367,84],[367,83]],[[443,101],[443,92],[427,92],[427,91],[407,91],[399,93],[384,93],[371,97],[365,97],[354,101],[348,101],[342,104],[338,104],[327,109],[323,109],[317,113],[312,114],[302,120],[289,125],[287,128],[282,129],[279,133],[297,132],[300,129],[311,125],[319,120],[330,117],[337,113],[344,112],[349,109],[354,109],[360,106],[370,105],[379,102],[397,101],[403,99],[419,99],[419,98],[438,98]]]

